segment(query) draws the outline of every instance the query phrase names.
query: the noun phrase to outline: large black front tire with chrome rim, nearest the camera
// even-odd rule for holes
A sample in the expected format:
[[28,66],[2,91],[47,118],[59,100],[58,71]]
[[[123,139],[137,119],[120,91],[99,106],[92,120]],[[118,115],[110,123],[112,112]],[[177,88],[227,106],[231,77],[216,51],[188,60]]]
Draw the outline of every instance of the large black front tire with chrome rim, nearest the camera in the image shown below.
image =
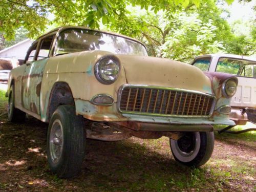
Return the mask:
[[58,106],[51,117],[47,133],[47,159],[52,172],[59,178],[77,176],[83,162],[85,146],[83,118],[75,115],[74,106]]

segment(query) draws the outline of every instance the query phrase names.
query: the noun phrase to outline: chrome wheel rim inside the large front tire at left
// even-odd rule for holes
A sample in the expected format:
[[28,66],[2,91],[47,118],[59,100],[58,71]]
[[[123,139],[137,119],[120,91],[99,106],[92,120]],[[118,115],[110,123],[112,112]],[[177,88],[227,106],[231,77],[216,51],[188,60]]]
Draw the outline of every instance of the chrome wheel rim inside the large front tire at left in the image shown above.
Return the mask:
[[50,132],[50,156],[54,163],[57,163],[63,151],[63,128],[60,120],[56,119]]

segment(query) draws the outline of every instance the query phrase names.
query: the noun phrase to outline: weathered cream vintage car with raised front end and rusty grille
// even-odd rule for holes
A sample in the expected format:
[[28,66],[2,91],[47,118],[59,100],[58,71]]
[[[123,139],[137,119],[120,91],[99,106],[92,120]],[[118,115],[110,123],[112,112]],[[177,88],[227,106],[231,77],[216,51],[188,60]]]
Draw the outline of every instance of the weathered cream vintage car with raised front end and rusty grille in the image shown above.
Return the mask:
[[[49,123],[48,163],[61,178],[78,174],[86,138],[170,138],[174,158],[201,166],[214,148],[212,124],[233,125],[238,79],[165,58],[138,40],[61,27],[35,40],[10,73],[8,117]],[[128,152],[129,153],[129,152]]]

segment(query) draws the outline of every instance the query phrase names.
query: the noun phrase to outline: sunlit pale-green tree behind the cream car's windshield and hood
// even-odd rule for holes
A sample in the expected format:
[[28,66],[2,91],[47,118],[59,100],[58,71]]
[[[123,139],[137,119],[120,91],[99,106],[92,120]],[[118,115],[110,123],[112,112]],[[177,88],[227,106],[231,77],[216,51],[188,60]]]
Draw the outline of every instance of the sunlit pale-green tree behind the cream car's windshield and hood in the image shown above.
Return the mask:
[[[206,0],[199,8],[190,5],[176,11],[130,8],[125,18],[116,19],[111,30],[133,35],[143,41],[152,56],[189,62],[195,56],[225,50],[232,38],[228,23],[220,17],[216,1]],[[132,33],[132,34],[129,34]]]

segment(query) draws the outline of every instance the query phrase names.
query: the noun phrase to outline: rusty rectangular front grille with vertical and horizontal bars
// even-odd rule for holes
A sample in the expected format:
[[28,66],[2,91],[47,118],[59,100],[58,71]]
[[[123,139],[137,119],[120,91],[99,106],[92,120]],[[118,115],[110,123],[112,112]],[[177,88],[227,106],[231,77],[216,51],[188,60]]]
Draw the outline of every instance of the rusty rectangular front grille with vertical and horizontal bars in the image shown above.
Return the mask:
[[122,113],[163,116],[209,116],[214,97],[172,88],[124,86],[120,90]]

